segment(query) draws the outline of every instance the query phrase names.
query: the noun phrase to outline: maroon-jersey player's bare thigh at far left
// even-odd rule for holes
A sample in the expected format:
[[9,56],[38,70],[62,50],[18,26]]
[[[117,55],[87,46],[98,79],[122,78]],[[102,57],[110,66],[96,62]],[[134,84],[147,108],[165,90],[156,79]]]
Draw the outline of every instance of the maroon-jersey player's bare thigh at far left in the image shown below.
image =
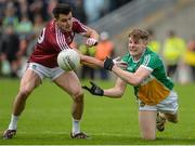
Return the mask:
[[31,69],[27,69],[21,80],[20,90],[31,92],[40,83],[41,83],[41,79],[38,76],[38,74]]

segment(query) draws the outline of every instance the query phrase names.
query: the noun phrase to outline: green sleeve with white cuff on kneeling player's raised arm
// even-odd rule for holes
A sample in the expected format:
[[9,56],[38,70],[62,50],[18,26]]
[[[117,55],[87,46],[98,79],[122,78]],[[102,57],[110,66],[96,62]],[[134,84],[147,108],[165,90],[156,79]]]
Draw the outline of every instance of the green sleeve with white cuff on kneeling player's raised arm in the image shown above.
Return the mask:
[[154,69],[158,68],[162,65],[162,61],[157,55],[147,54],[144,56],[143,63],[141,64],[142,67],[153,71]]

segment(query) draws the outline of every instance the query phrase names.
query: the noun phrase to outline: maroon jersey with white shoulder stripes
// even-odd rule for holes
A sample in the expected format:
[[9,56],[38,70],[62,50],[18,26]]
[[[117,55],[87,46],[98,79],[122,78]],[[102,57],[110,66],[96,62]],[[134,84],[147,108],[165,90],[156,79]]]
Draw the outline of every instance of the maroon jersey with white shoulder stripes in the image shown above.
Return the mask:
[[86,32],[87,27],[76,18],[73,18],[73,28],[68,32],[63,32],[52,19],[42,29],[28,62],[38,63],[50,68],[56,67],[58,52],[69,49],[75,34],[84,35]]

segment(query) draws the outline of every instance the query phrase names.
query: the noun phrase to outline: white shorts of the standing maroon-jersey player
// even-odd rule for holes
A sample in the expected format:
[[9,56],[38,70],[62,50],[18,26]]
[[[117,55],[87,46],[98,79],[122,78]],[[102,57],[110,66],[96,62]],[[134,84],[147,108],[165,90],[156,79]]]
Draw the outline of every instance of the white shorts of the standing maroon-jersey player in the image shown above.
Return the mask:
[[41,80],[43,80],[44,78],[50,78],[51,80],[54,80],[65,72],[60,67],[50,68],[38,63],[29,63],[27,69],[31,69],[37,72]]

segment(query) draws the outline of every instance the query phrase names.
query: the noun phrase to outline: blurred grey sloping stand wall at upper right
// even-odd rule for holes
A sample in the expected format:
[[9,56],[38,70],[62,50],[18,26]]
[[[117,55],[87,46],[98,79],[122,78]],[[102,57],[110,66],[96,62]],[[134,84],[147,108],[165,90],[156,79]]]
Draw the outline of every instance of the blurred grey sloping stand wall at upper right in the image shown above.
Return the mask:
[[127,49],[127,37],[132,28],[153,28],[160,41],[166,39],[168,30],[173,29],[187,40],[194,35],[193,17],[194,0],[133,0],[91,24],[91,27],[108,31],[121,54],[121,50]]

